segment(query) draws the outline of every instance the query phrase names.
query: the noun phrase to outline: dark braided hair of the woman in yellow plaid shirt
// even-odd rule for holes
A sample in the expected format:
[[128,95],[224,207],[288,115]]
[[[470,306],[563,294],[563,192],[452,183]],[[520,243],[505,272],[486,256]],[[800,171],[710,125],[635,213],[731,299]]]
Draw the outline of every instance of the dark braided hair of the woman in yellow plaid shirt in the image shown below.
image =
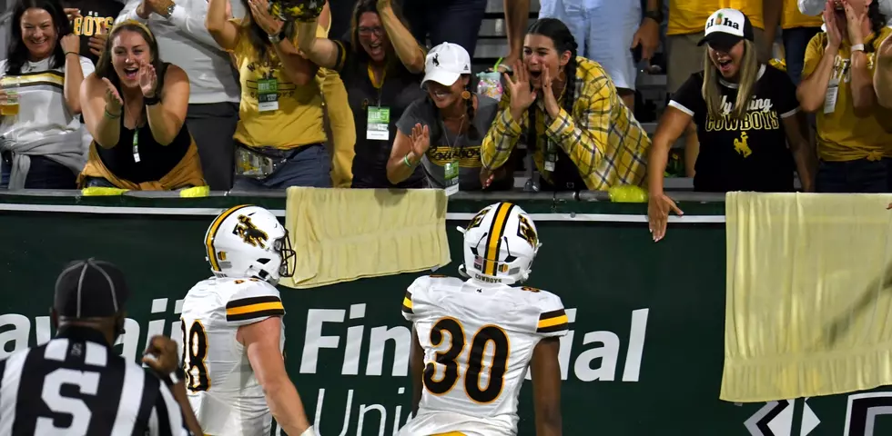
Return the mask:
[[[570,52],[570,61],[563,67],[563,72],[567,77],[567,83],[564,84],[563,87],[563,110],[567,111],[567,114],[573,114],[573,103],[575,103],[577,84],[576,48],[578,45],[576,45],[576,39],[573,38],[573,34],[570,33],[570,29],[567,28],[567,25],[564,25],[563,22],[557,18],[542,18],[536,20],[530,25],[530,28],[527,29],[526,35],[542,35],[550,38],[554,44],[554,51],[557,52],[558,57],[561,57],[563,52]],[[539,144],[539,134],[536,132],[535,104],[530,104],[528,114],[530,125],[527,126],[527,147],[534,150],[533,147],[536,147]]]

